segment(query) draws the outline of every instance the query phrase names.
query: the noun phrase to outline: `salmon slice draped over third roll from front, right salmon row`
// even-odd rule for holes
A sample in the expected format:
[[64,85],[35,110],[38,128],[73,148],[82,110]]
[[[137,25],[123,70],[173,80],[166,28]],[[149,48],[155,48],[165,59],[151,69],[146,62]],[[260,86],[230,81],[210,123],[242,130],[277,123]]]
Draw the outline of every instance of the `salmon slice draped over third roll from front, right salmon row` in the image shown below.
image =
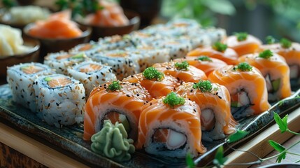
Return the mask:
[[219,83],[227,87],[231,97],[240,92],[245,92],[245,96],[248,97],[250,102],[247,104],[248,109],[241,115],[257,115],[271,107],[268,102],[266,81],[262,73],[255,67],[252,67],[251,71],[239,71],[235,70],[235,66],[227,65],[210,73],[208,79],[212,83]]

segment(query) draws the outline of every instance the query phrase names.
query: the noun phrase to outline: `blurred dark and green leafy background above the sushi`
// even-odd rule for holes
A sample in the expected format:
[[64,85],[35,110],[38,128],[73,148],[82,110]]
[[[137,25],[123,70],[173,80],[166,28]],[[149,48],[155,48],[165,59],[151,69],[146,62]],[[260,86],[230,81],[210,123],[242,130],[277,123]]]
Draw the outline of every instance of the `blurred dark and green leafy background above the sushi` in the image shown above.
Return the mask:
[[[11,0],[2,0],[1,2],[6,1]],[[166,22],[172,18],[193,18],[203,27],[222,27],[227,30],[227,34],[247,31],[263,41],[268,35],[300,41],[299,0],[117,1],[123,8],[136,10],[141,15],[141,28],[150,24]],[[19,2],[57,8],[55,0],[19,0]],[[3,6],[3,4],[0,5]]]

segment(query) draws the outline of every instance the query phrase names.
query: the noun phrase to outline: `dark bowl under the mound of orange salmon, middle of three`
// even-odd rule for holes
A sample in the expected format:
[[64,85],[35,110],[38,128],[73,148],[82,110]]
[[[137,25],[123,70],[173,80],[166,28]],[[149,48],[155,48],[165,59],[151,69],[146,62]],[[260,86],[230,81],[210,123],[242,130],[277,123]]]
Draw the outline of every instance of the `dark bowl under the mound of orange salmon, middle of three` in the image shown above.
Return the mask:
[[80,43],[87,43],[90,41],[91,28],[80,25],[80,29],[83,31],[83,35],[76,38],[41,38],[36,36],[31,36],[29,34],[29,29],[34,26],[35,23],[31,23],[24,27],[23,31],[26,36],[29,38],[34,38],[41,43],[41,59],[40,62],[43,62],[43,57],[49,52],[59,52],[67,51],[73,48],[75,45]]

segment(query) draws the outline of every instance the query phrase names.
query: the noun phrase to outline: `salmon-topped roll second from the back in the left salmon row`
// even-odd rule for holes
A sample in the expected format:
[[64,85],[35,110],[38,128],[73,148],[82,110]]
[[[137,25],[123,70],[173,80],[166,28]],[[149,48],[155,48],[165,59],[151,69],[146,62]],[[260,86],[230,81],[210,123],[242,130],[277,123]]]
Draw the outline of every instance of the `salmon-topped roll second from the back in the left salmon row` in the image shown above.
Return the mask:
[[238,54],[233,49],[227,48],[227,45],[221,42],[216,42],[212,47],[196,48],[187,53],[187,56],[193,57],[199,57],[201,55],[221,59],[227,64],[238,63]]

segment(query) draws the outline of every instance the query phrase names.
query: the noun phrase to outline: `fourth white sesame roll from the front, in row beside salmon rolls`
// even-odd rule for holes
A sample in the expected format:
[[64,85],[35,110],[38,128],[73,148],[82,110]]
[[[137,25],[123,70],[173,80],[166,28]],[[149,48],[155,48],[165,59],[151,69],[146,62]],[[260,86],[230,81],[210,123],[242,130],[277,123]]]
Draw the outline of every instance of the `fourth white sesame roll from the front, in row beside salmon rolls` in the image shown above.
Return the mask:
[[170,60],[169,50],[166,48],[137,45],[134,48],[126,48],[125,50],[138,55],[138,64],[141,71],[144,71],[155,63],[168,62]]

